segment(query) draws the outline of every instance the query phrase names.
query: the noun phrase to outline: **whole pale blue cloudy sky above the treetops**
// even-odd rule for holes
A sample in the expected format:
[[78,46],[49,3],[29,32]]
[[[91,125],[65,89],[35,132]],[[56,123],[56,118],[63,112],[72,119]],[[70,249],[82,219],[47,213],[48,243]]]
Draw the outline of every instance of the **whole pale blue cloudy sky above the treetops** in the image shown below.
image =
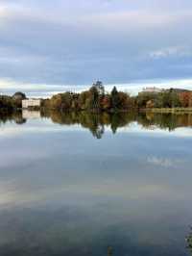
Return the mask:
[[[0,92],[192,89],[191,0],[0,0]],[[44,95],[44,94],[43,94]]]

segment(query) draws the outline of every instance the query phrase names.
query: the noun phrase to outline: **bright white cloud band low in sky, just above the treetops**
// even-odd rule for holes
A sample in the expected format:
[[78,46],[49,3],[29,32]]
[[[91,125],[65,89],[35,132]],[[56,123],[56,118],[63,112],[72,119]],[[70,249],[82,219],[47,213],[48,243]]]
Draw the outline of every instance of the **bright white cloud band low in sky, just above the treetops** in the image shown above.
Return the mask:
[[[91,86],[90,81],[87,84],[40,84],[40,83],[19,83],[10,79],[0,79],[0,94],[12,95],[15,91],[21,90],[27,94],[29,97],[51,97],[56,93],[62,91],[76,91],[80,92],[83,90],[88,90]],[[145,81],[133,81],[131,83],[109,83],[105,84],[107,91],[111,91],[113,87],[118,90],[122,90],[130,93],[131,95],[137,94],[139,91],[146,87],[157,87],[162,89],[170,88],[183,88],[187,90],[192,90],[192,79],[176,79],[176,80],[145,80]]]

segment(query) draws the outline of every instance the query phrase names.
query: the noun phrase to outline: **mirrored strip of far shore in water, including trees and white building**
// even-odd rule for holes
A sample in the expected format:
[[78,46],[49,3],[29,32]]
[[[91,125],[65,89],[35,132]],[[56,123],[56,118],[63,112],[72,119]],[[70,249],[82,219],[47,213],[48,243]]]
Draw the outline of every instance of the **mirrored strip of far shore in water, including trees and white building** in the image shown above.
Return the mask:
[[23,111],[12,113],[11,115],[0,115],[0,124],[7,121],[14,121],[17,124],[24,124],[28,119],[40,117],[50,118],[54,123],[64,125],[79,124],[88,129],[91,134],[101,139],[105,129],[109,128],[115,134],[119,128],[128,127],[136,122],[148,130],[174,131],[180,127],[192,127],[192,114],[150,114],[150,113],[118,113],[118,114],[93,114],[87,112],[56,112],[40,113],[33,111]]

